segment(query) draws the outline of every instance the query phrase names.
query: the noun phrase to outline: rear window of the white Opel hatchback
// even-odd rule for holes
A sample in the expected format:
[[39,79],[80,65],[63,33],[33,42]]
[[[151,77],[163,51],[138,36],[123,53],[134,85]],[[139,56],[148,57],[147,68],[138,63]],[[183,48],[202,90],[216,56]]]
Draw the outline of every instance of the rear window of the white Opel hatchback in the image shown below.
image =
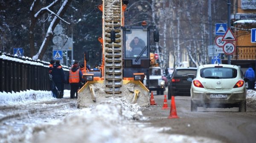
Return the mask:
[[234,79],[237,70],[228,67],[209,67],[201,69],[200,76],[205,79]]

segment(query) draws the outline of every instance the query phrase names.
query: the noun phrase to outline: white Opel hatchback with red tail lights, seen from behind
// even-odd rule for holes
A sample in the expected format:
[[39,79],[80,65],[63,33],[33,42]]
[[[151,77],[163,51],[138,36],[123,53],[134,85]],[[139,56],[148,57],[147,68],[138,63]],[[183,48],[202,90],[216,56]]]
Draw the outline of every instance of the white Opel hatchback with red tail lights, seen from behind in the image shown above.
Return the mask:
[[191,111],[197,107],[239,107],[246,112],[246,87],[236,65],[206,64],[198,67],[191,86]]

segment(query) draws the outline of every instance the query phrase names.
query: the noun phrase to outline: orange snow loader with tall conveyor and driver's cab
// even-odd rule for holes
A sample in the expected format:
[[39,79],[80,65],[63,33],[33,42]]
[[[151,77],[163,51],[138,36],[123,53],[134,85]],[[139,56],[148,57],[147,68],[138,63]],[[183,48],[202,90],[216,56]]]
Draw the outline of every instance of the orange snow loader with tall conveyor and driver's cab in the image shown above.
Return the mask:
[[[125,97],[131,103],[149,106],[149,90],[143,81],[150,67],[150,30],[154,28],[154,41],[159,41],[155,27],[125,26],[122,0],[102,0],[102,64],[98,70],[85,71],[84,86],[79,90],[78,106],[87,107],[107,100]],[[127,0],[126,0],[127,2]],[[84,66],[89,60],[85,52]]]

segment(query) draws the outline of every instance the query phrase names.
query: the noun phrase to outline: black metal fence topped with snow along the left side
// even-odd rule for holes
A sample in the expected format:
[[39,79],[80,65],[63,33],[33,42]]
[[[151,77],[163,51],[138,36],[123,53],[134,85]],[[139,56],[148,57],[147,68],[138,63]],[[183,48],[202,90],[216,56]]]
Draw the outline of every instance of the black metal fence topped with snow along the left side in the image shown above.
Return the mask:
[[[63,68],[67,74],[68,69]],[[0,92],[50,90],[49,62],[0,52],[0,69]],[[64,84],[64,89],[69,90],[70,85]]]

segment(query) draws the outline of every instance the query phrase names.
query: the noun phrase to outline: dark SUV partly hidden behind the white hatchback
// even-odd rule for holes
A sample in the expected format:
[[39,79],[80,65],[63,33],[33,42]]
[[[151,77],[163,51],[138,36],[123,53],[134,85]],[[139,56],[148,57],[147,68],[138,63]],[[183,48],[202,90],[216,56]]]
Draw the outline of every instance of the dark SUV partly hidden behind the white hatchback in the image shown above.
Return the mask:
[[196,67],[177,67],[168,82],[168,99],[171,96],[190,96],[191,82],[189,78],[195,78]]

